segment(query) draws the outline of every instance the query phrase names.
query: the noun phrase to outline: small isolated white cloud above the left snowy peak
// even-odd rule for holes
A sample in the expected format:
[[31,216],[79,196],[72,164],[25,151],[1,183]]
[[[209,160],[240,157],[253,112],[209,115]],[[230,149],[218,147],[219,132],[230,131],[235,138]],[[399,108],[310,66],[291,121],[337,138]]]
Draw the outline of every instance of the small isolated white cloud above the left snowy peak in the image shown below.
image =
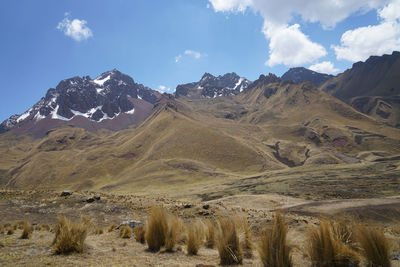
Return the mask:
[[69,19],[70,14],[65,13],[64,19],[58,23],[57,29],[75,41],[83,41],[93,36],[92,30],[86,25],[86,20]]

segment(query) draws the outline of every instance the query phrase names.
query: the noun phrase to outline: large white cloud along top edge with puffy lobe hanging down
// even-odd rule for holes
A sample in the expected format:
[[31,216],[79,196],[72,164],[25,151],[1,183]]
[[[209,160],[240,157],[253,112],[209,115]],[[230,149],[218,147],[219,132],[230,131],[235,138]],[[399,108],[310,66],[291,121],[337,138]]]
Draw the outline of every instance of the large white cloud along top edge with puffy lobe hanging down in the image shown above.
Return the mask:
[[[306,22],[320,23],[324,29],[333,28],[352,14],[381,8],[390,0],[209,0],[209,2],[216,12],[244,12],[251,9],[261,14],[264,18],[263,33],[270,41],[269,59],[266,64],[294,66],[315,62],[326,55],[322,45],[313,42],[301,32],[297,24],[291,23],[295,16],[300,16]],[[398,13],[390,12],[390,14],[395,16]],[[280,40],[281,38],[283,39]],[[291,42],[298,44],[299,48],[293,49],[294,45]]]

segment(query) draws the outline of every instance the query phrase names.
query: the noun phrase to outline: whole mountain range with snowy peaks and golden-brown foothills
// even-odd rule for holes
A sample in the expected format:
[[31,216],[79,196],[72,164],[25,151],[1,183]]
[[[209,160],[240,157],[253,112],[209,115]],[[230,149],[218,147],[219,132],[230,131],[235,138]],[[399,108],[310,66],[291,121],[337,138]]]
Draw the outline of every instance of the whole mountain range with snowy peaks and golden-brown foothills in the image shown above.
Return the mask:
[[[332,77],[304,68],[253,82],[206,73],[174,95],[117,70],[63,80],[1,124],[0,185],[140,191],[396,160],[398,56],[371,57]],[[380,104],[365,110],[363,97],[390,99],[382,100],[390,116],[379,115]]]

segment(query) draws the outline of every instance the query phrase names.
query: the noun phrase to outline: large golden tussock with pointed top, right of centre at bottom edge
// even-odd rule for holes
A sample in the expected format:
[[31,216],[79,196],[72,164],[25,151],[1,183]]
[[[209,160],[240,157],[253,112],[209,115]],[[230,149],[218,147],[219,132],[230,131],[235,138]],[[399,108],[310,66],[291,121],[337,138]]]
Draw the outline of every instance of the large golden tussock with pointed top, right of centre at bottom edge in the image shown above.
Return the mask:
[[266,228],[261,232],[258,253],[265,267],[293,266],[290,255],[291,247],[287,244],[288,226],[285,218],[276,213],[271,228]]

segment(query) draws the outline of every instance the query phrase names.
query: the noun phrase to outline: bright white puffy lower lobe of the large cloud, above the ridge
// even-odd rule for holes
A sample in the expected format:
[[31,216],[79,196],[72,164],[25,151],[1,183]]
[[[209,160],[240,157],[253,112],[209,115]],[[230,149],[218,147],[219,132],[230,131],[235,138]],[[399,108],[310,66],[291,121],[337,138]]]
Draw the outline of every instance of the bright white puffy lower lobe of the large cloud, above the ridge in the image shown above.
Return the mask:
[[300,31],[298,24],[268,32],[267,36],[270,39],[269,59],[265,64],[268,66],[298,66],[314,62],[326,55],[325,48],[310,41],[308,36]]

